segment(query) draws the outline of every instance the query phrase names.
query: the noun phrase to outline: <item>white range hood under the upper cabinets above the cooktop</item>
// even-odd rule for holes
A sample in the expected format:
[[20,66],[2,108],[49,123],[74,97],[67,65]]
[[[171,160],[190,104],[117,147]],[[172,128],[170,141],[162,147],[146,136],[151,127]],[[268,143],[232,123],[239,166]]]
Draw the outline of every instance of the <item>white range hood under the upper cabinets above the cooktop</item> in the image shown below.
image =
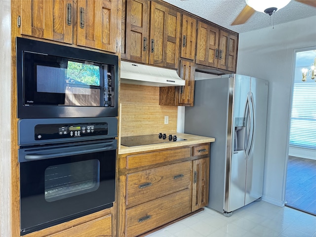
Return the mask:
[[143,64],[120,62],[121,83],[151,86],[184,85],[177,72],[172,69],[158,68]]

